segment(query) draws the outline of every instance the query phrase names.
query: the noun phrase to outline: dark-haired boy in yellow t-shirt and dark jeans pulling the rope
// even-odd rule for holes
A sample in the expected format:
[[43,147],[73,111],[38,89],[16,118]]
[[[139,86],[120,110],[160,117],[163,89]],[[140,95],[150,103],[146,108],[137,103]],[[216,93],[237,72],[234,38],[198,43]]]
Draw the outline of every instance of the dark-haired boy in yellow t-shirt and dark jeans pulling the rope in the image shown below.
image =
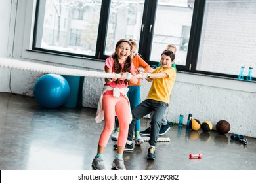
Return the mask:
[[[161,120],[165,114],[166,108],[169,106],[171,90],[175,83],[176,71],[171,67],[175,59],[175,54],[170,50],[165,50],[161,54],[161,67],[157,67],[152,73],[142,73],[142,78],[146,78],[148,82],[152,82],[148,97],[132,110],[133,120],[129,127],[129,135],[127,144],[131,145],[133,141],[133,131],[136,120],[146,116],[150,112],[154,112],[152,121],[150,122],[150,148],[148,149],[148,159],[155,159],[155,146],[158,140]],[[131,143],[131,144],[129,144]]]

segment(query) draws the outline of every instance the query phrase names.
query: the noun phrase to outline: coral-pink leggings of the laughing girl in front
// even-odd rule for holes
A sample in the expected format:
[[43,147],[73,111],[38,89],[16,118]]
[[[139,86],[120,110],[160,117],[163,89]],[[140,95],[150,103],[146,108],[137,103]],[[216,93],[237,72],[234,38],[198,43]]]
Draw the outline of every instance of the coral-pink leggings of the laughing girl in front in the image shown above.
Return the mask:
[[110,135],[116,122],[116,111],[116,115],[119,120],[119,137],[117,146],[125,147],[130,124],[130,116],[128,111],[131,110],[131,108],[129,106],[129,101],[127,101],[123,95],[121,95],[119,98],[114,97],[113,95],[103,95],[102,109],[104,110],[105,127],[100,135],[98,144],[104,147],[106,147],[108,144],[108,140],[110,139]]

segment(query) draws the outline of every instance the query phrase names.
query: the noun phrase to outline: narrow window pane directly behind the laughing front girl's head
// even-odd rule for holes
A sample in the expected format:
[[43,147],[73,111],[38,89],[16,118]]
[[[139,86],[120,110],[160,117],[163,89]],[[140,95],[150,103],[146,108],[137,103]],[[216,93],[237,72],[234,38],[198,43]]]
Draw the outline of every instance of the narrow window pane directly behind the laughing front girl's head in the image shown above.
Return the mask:
[[111,55],[122,38],[135,40],[139,47],[143,8],[144,1],[111,1],[105,55]]

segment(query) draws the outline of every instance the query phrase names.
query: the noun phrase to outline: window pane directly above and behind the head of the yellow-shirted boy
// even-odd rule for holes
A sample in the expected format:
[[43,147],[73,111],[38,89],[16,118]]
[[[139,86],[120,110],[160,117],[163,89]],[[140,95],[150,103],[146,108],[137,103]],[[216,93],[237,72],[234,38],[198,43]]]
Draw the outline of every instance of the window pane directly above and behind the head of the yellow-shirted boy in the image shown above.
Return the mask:
[[177,46],[175,63],[186,65],[194,1],[158,0],[150,60],[159,61],[168,44]]

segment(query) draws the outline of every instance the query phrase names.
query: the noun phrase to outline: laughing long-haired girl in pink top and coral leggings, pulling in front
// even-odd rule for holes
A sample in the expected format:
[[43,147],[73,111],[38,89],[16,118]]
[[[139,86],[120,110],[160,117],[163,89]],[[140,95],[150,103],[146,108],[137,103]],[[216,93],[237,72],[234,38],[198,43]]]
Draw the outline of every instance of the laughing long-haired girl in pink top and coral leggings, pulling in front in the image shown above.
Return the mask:
[[123,150],[125,148],[129,124],[131,122],[131,108],[126,93],[128,80],[134,84],[138,82],[136,69],[132,63],[131,50],[133,46],[127,39],[120,39],[116,44],[114,54],[106,59],[104,70],[106,73],[120,74],[121,78],[105,78],[105,84],[96,114],[96,122],[105,119],[105,126],[98,141],[98,152],[93,159],[93,167],[98,170],[105,169],[103,153],[114,129],[115,116],[119,119],[120,132],[117,141],[117,154],[112,167],[125,169]]

